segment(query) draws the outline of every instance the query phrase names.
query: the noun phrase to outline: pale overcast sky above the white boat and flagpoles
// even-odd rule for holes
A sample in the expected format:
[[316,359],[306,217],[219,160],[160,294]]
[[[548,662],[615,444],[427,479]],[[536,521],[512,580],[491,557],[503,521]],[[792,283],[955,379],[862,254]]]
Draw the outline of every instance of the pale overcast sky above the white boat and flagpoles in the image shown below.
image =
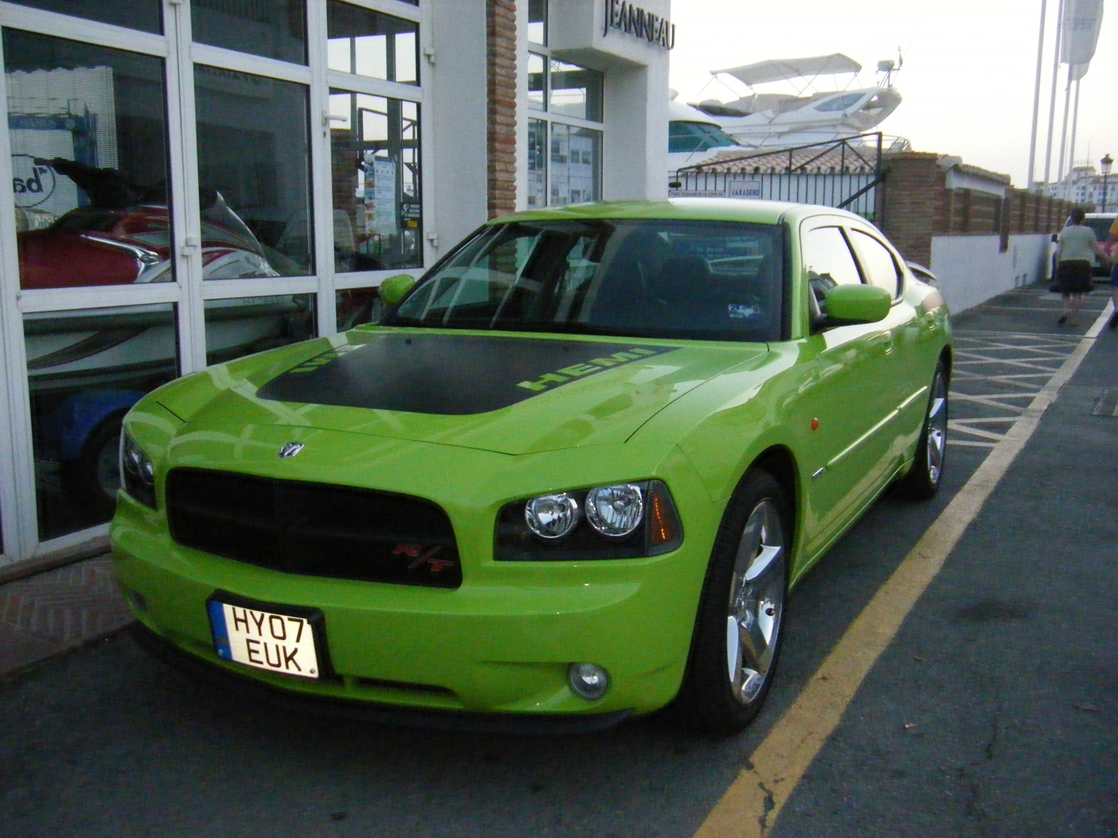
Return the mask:
[[[1076,133],[1076,161],[1090,162],[1096,169],[1105,154],[1118,161],[1118,96],[1112,93],[1118,85],[1118,0],[1109,4],[1103,9],[1098,49],[1080,83]],[[1044,177],[1058,7],[1059,0],[1048,0],[1038,179]],[[878,130],[907,137],[913,151],[957,155],[964,163],[1008,174],[1014,185],[1024,188],[1040,16],[1041,0],[675,0],[671,86],[683,102],[724,102],[745,88],[739,85],[731,92],[712,80],[711,69],[844,53],[863,67],[856,86],[868,87],[875,82],[878,61],[897,60],[899,48],[903,67],[894,86],[903,101]],[[836,89],[847,78],[823,77],[816,89]],[[1065,79],[1063,66],[1052,180],[1058,177]],[[779,85],[758,89],[792,92]],[[1070,133],[1069,127],[1069,142]]]

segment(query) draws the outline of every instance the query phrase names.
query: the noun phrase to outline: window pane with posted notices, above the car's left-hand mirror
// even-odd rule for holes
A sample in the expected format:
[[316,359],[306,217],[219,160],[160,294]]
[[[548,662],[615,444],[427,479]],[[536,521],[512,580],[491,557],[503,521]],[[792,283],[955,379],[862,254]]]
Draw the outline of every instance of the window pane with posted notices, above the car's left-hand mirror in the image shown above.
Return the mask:
[[330,92],[337,270],[423,265],[419,105]]

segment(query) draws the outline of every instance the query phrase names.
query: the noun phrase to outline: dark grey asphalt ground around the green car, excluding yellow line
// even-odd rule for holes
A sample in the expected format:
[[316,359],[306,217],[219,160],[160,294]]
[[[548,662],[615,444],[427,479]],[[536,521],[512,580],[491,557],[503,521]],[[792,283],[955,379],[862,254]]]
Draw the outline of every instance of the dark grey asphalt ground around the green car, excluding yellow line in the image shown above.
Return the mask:
[[[690,838],[1080,344],[1084,330],[1058,327],[1057,307],[1029,288],[956,318],[944,489],[925,504],[883,498],[797,589],[777,683],[745,733],[698,737],[655,718],[566,737],[322,720],[233,699],[122,635],[0,682],[0,836]],[[1108,391],[1118,333],[1103,330],[785,783],[778,817],[747,811],[721,834],[1118,836],[1118,417],[1096,415],[1114,409]]]

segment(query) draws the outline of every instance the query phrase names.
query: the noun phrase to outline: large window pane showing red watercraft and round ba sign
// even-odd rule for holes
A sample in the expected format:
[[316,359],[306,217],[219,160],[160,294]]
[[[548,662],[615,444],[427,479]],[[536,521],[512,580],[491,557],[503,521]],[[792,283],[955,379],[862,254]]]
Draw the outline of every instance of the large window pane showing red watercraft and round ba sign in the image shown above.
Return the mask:
[[20,287],[174,279],[163,63],[6,29]]

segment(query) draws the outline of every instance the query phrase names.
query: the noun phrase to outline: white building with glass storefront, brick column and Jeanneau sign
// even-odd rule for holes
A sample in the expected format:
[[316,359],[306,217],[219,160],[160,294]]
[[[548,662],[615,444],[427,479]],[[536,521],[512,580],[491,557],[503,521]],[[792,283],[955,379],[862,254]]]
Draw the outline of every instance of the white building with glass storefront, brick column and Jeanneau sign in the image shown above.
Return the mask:
[[104,539],[155,387],[367,322],[493,215],[664,197],[669,11],[0,2],[0,564]]

